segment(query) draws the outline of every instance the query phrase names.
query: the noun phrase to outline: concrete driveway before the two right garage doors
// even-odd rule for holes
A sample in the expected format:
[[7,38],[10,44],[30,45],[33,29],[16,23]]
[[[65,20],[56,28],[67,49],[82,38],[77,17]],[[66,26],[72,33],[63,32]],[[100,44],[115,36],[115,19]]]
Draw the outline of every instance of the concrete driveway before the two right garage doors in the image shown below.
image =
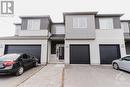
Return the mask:
[[68,65],[64,87],[130,87],[130,73],[99,65]]

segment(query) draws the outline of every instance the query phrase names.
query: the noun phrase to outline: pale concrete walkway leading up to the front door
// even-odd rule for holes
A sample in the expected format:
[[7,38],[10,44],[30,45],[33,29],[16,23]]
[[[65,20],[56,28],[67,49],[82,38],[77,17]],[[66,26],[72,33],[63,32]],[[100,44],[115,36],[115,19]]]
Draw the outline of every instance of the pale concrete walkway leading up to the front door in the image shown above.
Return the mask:
[[64,64],[48,64],[18,87],[61,87]]

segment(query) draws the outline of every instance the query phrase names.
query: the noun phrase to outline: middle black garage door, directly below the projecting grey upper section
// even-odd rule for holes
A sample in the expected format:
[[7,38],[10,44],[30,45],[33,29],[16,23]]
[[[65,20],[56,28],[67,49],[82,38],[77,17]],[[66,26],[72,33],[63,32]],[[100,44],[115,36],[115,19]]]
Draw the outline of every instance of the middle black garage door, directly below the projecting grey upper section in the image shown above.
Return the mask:
[[89,45],[70,45],[70,64],[90,64]]

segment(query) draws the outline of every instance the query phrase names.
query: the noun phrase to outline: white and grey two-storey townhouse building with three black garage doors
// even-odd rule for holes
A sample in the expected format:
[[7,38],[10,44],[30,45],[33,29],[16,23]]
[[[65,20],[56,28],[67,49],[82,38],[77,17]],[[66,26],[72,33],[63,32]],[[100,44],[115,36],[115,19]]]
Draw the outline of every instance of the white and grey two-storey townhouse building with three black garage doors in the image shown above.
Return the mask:
[[111,64],[126,55],[121,16],[68,12],[63,23],[49,16],[20,17],[15,36],[0,38],[0,53],[29,53],[41,64]]

